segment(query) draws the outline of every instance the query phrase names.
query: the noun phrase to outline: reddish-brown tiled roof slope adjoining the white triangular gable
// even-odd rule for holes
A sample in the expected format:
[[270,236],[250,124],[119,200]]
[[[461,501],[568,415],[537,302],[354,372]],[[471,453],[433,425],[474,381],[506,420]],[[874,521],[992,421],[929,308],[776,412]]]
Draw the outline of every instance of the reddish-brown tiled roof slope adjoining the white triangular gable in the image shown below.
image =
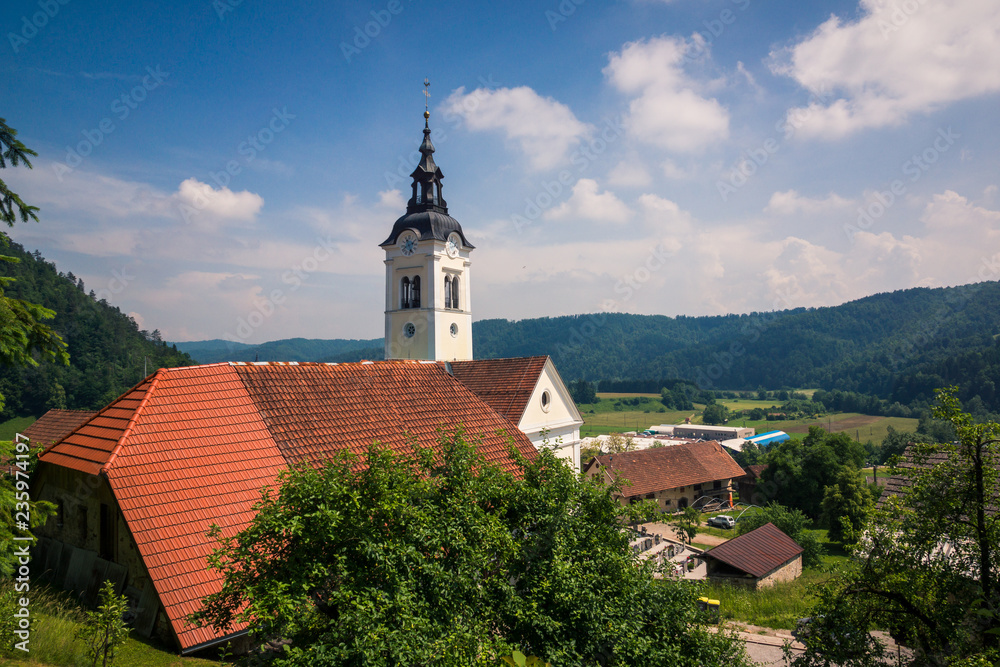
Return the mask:
[[521,421],[548,357],[452,361],[452,373],[491,408],[515,424]]

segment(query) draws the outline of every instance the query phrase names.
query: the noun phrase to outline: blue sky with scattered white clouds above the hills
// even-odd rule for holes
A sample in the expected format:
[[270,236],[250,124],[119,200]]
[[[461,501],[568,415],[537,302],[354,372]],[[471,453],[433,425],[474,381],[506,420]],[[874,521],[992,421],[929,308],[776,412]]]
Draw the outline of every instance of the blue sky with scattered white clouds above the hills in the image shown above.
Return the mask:
[[13,0],[0,26],[0,116],[39,153],[3,174],[41,208],[13,238],[168,340],[382,334],[425,77],[475,319],[1000,278],[986,0]]

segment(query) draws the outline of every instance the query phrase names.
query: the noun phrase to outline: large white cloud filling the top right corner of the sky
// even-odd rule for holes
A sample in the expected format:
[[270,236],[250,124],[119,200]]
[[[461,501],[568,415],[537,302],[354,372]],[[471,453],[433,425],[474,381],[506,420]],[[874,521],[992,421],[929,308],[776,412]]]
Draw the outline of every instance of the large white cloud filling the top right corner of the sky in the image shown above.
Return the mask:
[[[791,109],[802,136],[835,139],[1000,91],[1000,3],[862,0],[772,53],[771,69],[820,100]],[[825,98],[836,94],[835,99]]]

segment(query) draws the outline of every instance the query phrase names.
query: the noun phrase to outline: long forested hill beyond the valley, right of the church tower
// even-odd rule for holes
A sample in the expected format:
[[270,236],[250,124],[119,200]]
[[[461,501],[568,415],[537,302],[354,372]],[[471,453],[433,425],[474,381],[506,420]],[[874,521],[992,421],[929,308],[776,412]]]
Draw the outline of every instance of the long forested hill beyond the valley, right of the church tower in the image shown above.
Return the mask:
[[477,357],[551,354],[573,380],[693,380],[703,389],[822,387],[910,405],[946,384],[1000,411],[1000,283],[917,288],[840,306],[722,317],[484,320]]

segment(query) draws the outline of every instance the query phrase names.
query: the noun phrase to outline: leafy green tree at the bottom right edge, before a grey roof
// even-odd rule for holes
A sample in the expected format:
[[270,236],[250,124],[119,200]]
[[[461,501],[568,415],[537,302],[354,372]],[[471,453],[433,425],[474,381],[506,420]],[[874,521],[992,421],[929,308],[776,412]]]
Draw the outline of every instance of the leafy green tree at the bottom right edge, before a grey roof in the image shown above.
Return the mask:
[[[847,609],[856,627],[888,628],[916,664],[1000,659],[1000,425],[976,423],[954,390],[935,417],[956,440],[917,444],[902,493],[883,497],[864,527],[856,564],[834,578],[814,617]],[[817,641],[829,643],[818,628]],[[866,655],[870,656],[869,651]],[[823,664],[817,657],[801,665]]]

